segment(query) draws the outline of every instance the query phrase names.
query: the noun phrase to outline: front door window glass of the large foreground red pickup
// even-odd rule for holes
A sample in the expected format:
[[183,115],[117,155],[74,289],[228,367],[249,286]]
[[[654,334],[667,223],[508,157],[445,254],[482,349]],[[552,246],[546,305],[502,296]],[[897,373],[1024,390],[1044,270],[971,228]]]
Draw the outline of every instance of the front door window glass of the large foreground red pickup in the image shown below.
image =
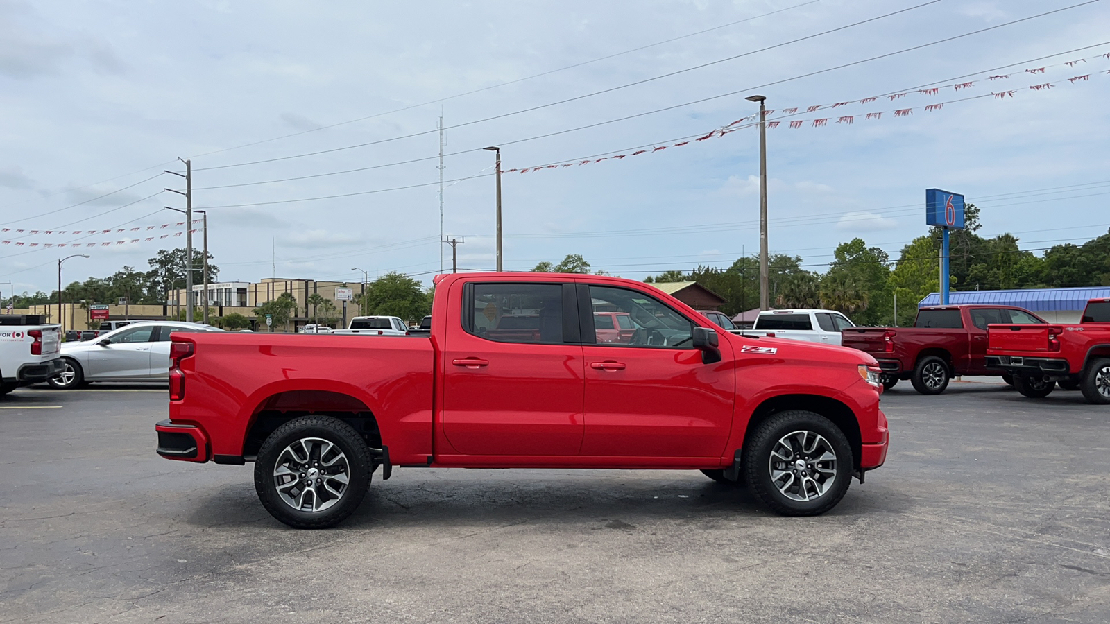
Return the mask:
[[623,312],[616,314],[617,322],[628,319],[636,328],[627,342],[606,342],[606,345],[688,349],[693,341],[694,323],[654,296],[629,289],[593,285],[589,286],[589,296],[595,313]]

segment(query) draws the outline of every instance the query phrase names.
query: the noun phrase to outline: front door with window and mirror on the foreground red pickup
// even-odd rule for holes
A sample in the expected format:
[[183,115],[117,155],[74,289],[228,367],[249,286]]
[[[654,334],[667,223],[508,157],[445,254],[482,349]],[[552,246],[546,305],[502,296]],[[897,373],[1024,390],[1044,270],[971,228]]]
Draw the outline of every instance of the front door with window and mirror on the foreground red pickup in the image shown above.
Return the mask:
[[733,354],[704,364],[694,323],[656,298],[618,286],[578,285],[579,314],[615,311],[636,325],[627,343],[596,342],[583,324],[586,435],[582,455],[720,457],[733,424]]

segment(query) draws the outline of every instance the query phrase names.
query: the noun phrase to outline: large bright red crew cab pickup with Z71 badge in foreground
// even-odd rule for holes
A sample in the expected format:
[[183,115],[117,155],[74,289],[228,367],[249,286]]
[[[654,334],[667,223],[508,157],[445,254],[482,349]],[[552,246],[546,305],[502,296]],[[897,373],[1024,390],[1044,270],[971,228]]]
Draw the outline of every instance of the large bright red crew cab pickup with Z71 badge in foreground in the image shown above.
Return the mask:
[[[265,509],[305,529],[349,516],[377,467],[700,470],[816,515],[886,460],[864,353],[718,333],[632,280],[435,281],[430,336],[173,334],[158,453],[254,462]],[[628,314],[628,341],[601,342],[597,311]]]

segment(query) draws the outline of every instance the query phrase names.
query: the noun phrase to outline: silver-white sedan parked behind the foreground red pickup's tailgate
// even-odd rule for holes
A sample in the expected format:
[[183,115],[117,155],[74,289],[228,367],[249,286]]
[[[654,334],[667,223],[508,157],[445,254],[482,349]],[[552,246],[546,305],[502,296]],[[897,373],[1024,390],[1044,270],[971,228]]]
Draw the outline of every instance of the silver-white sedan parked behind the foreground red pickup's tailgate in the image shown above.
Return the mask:
[[53,388],[77,388],[93,381],[167,381],[170,334],[222,332],[220,328],[180,321],[139,321],[83,342],[62,343],[62,373]]

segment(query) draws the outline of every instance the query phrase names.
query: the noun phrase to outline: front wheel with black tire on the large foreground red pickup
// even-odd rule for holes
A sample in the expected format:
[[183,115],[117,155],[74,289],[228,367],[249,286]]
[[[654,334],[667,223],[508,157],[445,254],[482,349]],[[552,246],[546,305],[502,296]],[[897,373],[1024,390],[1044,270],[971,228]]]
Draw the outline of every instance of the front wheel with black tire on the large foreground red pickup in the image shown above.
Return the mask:
[[[801,439],[794,434],[801,435]],[[817,436],[824,441],[817,441]],[[813,470],[820,465],[818,462],[804,464],[805,469],[797,469],[801,471],[801,475],[806,475],[808,481],[814,483],[814,493],[817,495],[810,497],[808,484],[803,481],[803,485],[807,487],[805,496],[809,500],[793,497],[803,495],[801,489],[795,491],[796,477],[794,475],[798,474],[797,470],[776,471],[779,480],[789,477],[789,481],[784,482],[783,487],[771,474],[771,453],[780,445],[785,446],[788,443],[791,447],[790,456],[796,456],[803,462],[807,457],[811,459],[810,455],[804,454],[804,444],[796,444],[803,439],[806,441],[805,443],[815,443],[810,447],[811,451],[829,452],[834,455],[831,465],[827,460],[821,462],[825,464],[825,470]],[[778,456],[774,455],[774,457]],[[784,469],[790,466],[788,462],[776,463]],[[803,410],[781,412],[768,417],[750,433],[744,447],[744,476],[748,486],[757,499],[780,515],[820,515],[835,507],[840,499],[844,499],[844,495],[848,493],[852,463],[851,445],[848,444],[844,432],[825,416]],[[809,476],[810,474],[819,479],[824,477],[824,481],[818,483],[816,479]],[[824,491],[818,490],[818,486]]]

